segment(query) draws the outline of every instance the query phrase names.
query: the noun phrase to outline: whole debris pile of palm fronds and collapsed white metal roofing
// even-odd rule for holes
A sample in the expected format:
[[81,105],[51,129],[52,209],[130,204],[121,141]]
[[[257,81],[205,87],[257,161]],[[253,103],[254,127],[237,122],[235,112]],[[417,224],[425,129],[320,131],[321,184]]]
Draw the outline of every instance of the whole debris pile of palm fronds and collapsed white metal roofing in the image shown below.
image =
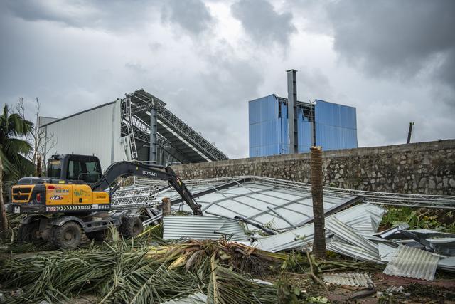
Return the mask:
[[[204,216],[182,215],[188,209],[170,188],[119,190],[118,209],[146,206],[147,214],[138,214],[156,225],[128,241],[113,229],[112,240],[78,251],[9,251],[0,259],[0,292],[11,303],[85,294],[100,303],[289,303],[328,301],[328,290],[344,288],[351,300],[390,300],[410,296],[397,280],[437,283],[437,269],[455,271],[455,234],[407,224],[378,232],[387,209],[372,199],[324,193],[329,253],[316,261],[309,188],[265,178],[188,184]],[[163,197],[174,215],[160,214]],[[396,286],[379,288],[378,276]]]

